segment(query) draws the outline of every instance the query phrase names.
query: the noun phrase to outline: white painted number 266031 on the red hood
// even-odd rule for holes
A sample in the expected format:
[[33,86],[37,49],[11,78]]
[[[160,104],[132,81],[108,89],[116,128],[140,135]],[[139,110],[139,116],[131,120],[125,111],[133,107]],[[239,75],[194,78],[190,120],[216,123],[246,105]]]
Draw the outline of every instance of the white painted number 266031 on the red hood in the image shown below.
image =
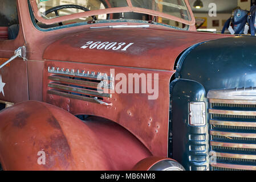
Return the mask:
[[94,42],[94,41],[89,41],[87,42],[84,46],[82,46],[81,48],[86,49],[86,48],[90,48],[90,49],[105,49],[105,50],[109,50],[112,49],[114,51],[117,50],[121,50],[121,51],[127,51],[127,49],[132,46],[132,44],[134,43],[117,43],[117,42]]

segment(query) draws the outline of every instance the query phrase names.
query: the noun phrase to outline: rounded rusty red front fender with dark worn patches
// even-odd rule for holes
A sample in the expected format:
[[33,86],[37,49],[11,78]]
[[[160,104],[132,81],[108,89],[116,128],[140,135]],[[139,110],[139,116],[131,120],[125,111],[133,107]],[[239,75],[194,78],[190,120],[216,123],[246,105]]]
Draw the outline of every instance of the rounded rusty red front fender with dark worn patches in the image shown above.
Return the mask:
[[[38,164],[38,152],[46,164]],[[129,170],[151,152],[105,119],[82,122],[59,107],[27,101],[0,112],[4,170]]]

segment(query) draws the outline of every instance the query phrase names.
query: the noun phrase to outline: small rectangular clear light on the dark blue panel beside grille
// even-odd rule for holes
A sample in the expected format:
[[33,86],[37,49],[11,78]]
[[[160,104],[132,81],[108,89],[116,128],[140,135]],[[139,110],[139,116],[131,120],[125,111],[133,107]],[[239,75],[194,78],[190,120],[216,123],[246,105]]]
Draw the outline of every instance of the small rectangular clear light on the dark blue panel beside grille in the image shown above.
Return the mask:
[[189,125],[205,126],[205,102],[190,102],[189,103]]

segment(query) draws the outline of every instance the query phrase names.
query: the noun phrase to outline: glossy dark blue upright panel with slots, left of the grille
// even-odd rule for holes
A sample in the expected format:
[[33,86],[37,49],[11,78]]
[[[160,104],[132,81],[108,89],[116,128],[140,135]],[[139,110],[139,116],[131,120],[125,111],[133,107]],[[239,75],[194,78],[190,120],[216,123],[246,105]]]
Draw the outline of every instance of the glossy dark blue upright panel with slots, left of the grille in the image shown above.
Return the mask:
[[170,97],[173,159],[186,170],[209,170],[208,123],[205,126],[189,125],[190,102],[205,102],[208,109],[204,86],[196,81],[176,79],[170,84]]

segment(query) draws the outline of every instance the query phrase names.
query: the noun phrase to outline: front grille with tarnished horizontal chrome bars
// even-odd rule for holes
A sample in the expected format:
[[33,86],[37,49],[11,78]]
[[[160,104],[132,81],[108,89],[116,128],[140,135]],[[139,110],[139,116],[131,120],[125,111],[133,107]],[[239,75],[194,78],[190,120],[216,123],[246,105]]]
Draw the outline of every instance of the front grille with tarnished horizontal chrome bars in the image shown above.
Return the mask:
[[256,88],[211,90],[209,99],[212,170],[256,170]]

